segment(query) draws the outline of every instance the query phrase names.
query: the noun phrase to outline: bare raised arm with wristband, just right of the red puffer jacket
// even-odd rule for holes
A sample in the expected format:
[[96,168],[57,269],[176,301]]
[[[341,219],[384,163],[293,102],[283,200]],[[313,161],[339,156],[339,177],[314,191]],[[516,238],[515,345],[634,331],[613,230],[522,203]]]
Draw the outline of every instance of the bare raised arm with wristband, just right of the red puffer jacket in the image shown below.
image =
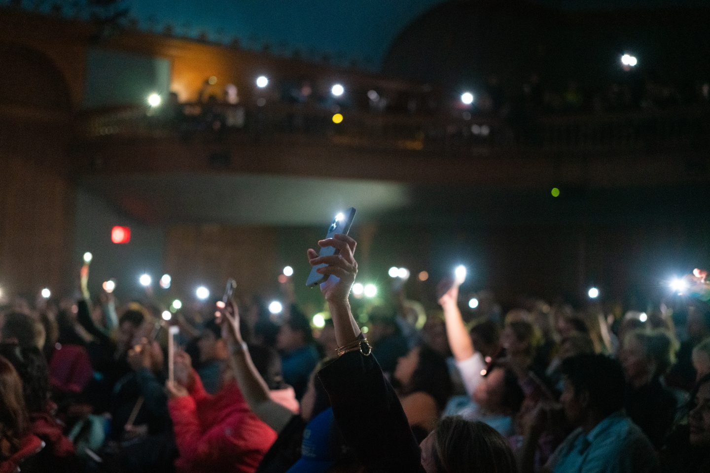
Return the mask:
[[234,299],[222,312],[222,338],[229,349],[229,367],[234,372],[241,394],[251,411],[276,432],[280,432],[294,414],[278,402],[272,401],[266,382],[251,360],[249,348],[239,331],[239,308]]

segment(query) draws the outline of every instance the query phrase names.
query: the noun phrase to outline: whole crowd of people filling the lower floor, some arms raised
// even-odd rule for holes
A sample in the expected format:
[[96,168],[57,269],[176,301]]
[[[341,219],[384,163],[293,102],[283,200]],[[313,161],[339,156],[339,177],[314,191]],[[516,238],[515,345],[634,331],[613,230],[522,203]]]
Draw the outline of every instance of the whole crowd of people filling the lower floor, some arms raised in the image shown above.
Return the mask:
[[318,245],[318,329],[234,298],[167,323],[92,298],[88,265],[75,297],[0,308],[0,473],[710,471],[706,272],[621,317],[398,284],[362,324],[355,240]]

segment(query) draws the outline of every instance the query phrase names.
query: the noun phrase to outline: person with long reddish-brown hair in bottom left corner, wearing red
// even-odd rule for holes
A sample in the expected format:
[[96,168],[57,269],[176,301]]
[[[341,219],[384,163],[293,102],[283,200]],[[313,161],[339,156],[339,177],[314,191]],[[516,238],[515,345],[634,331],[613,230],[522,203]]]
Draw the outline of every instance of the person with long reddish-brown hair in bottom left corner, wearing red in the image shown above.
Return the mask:
[[40,453],[44,443],[30,432],[30,421],[23,399],[22,381],[15,368],[0,357],[0,444],[1,472],[39,473],[52,471]]

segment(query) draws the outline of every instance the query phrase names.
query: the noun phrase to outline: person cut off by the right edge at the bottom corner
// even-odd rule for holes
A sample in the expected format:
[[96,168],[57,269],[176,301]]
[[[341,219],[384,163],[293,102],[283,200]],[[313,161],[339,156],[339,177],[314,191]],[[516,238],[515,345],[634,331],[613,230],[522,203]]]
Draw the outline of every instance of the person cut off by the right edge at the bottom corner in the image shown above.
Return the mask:
[[689,404],[688,423],[673,431],[661,451],[664,473],[710,472],[710,374],[699,379]]

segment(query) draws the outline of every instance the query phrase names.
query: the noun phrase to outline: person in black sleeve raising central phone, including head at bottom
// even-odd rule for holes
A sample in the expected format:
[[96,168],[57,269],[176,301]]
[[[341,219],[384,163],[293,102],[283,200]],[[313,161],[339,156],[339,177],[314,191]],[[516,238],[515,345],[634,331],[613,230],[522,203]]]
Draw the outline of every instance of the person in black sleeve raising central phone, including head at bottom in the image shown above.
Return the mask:
[[403,408],[386,381],[371,348],[350,311],[348,296],[357,274],[355,240],[346,235],[321,240],[340,250],[339,257],[319,257],[308,250],[312,266],[330,277],[321,284],[341,349],[318,373],[346,443],[366,471],[418,473],[513,473],[515,458],[500,434],[482,423],[445,418],[422,442],[413,438]]

